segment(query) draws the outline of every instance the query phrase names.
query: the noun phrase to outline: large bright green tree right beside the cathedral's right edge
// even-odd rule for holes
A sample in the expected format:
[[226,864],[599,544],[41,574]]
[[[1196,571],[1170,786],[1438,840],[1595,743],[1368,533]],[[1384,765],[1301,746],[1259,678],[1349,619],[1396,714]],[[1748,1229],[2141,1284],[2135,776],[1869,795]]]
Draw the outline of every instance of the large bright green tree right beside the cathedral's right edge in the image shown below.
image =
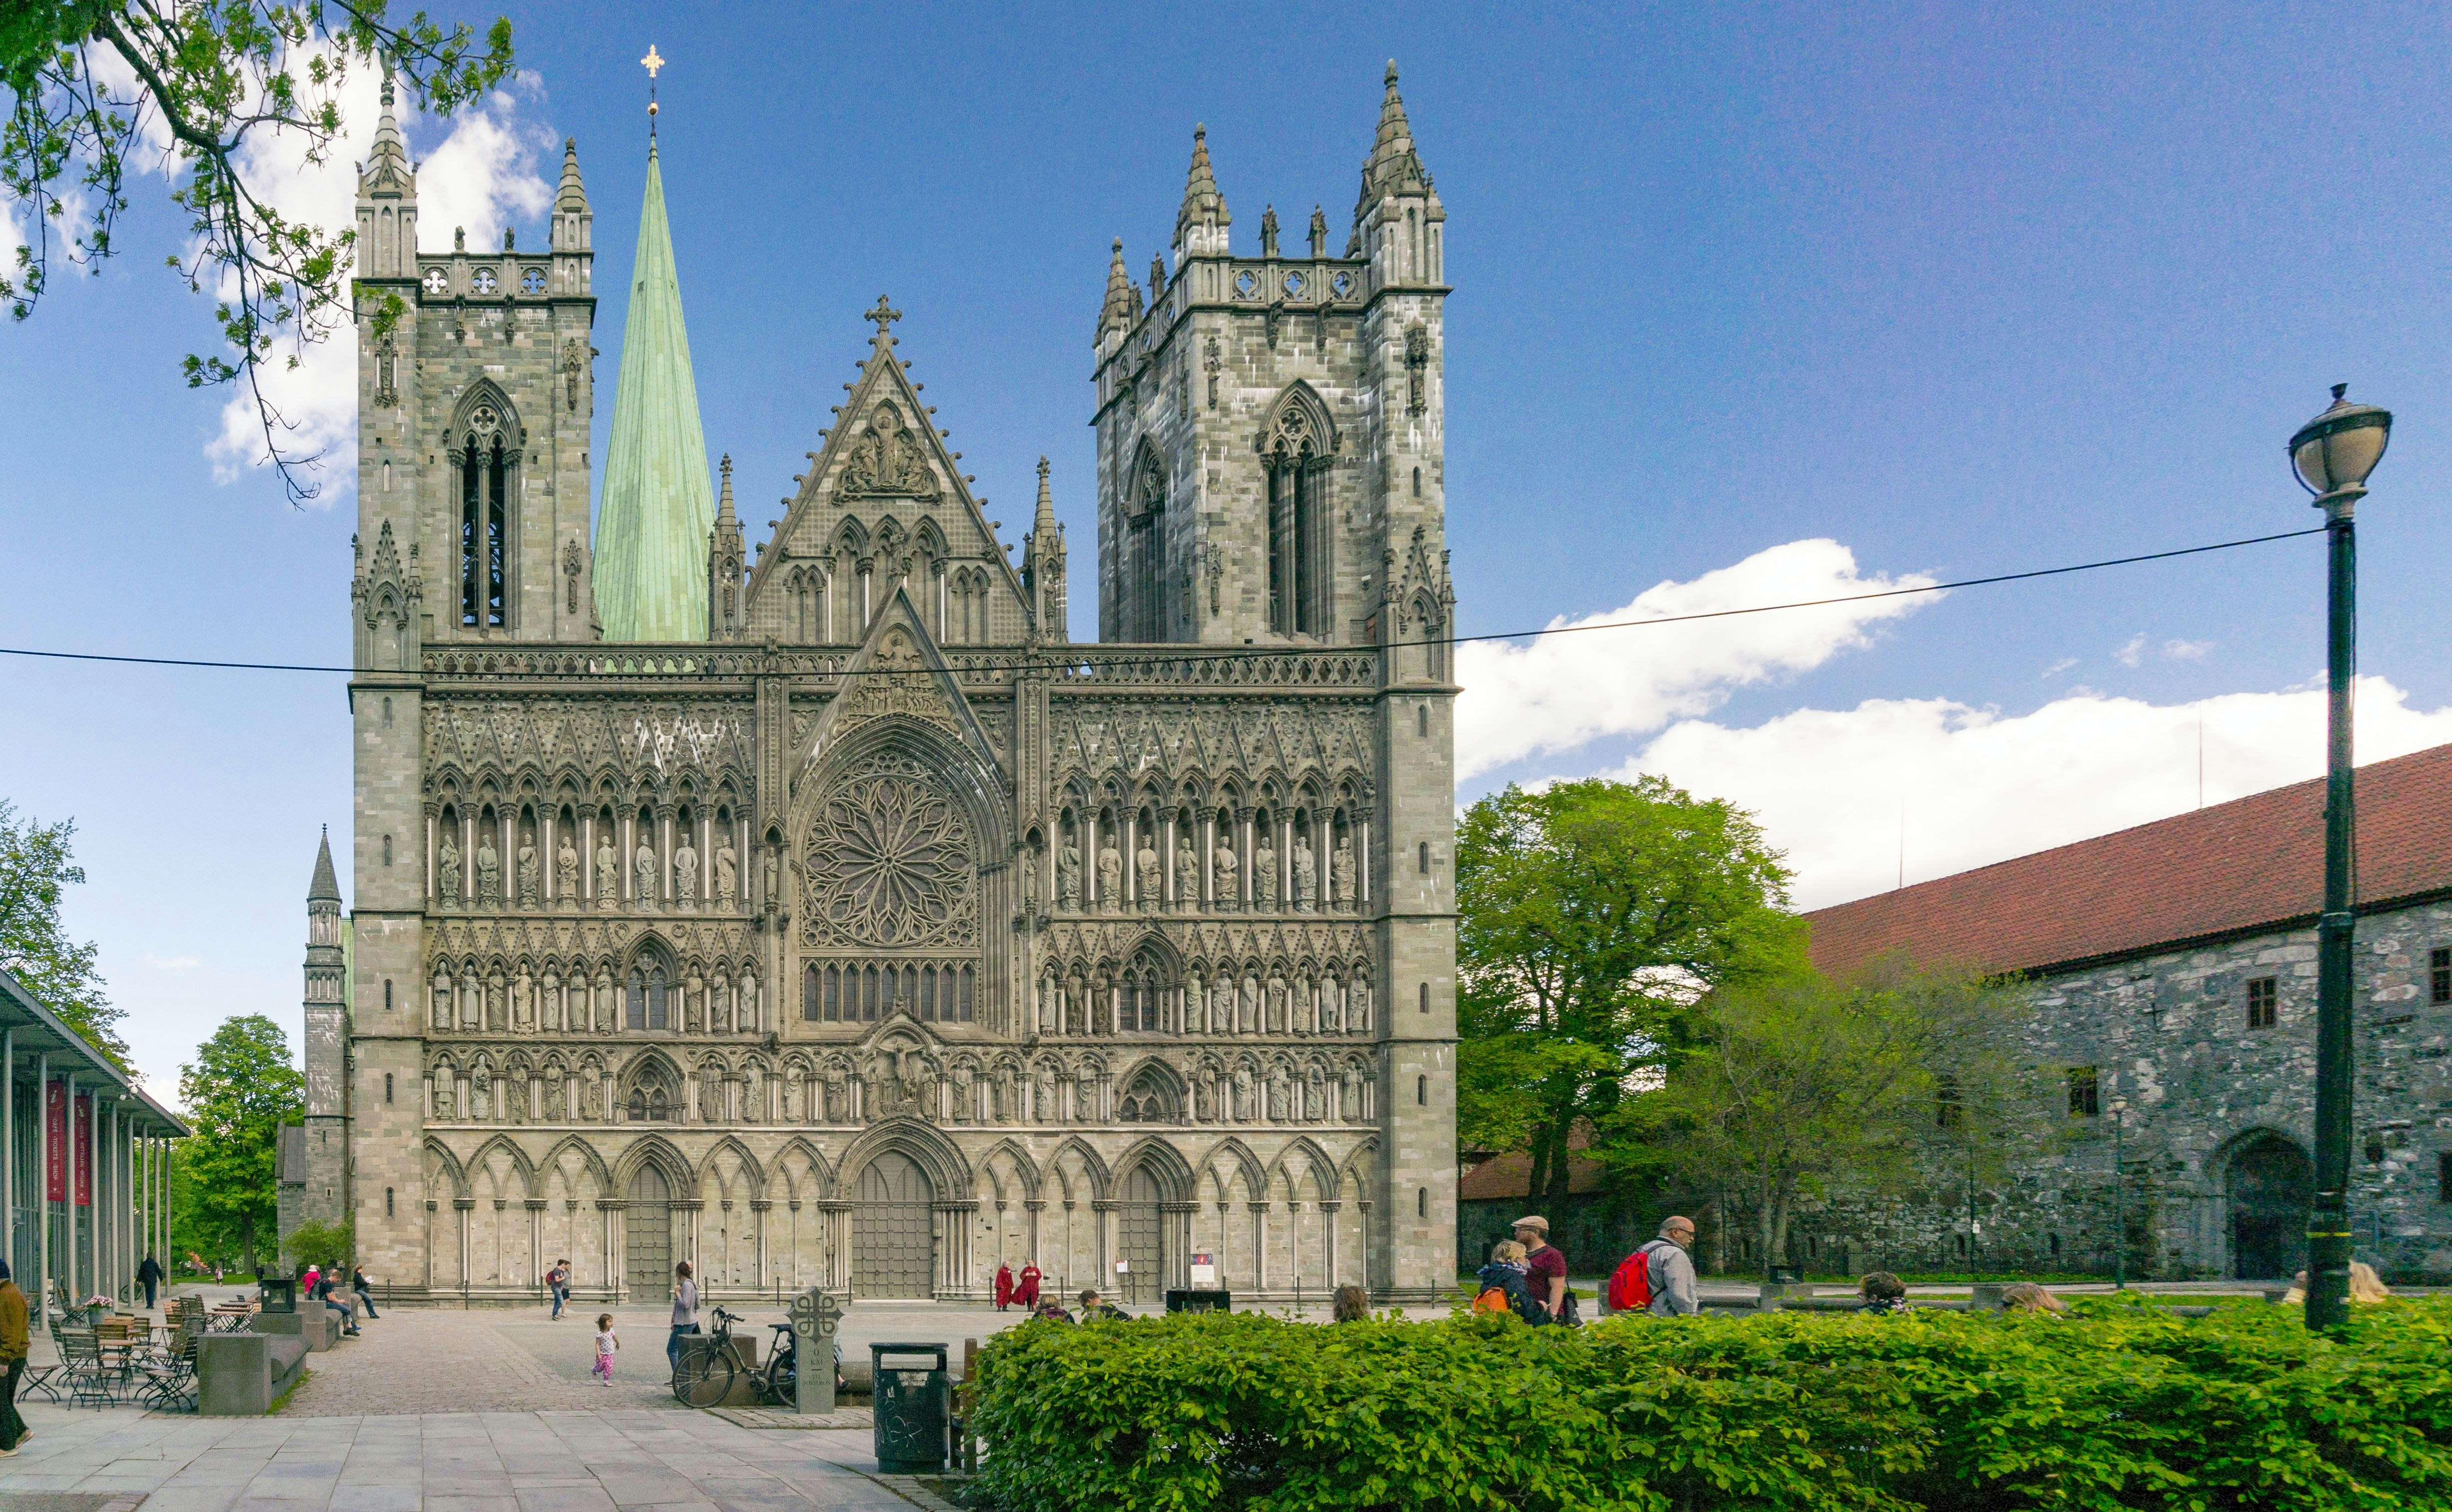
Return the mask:
[[1704,992],[1802,963],[1753,816],[1662,777],[1481,799],[1456,831],[1456,907],[1459,1137],[1528,1149],[1552,1206],[1574,1130],[1616,1127]]

